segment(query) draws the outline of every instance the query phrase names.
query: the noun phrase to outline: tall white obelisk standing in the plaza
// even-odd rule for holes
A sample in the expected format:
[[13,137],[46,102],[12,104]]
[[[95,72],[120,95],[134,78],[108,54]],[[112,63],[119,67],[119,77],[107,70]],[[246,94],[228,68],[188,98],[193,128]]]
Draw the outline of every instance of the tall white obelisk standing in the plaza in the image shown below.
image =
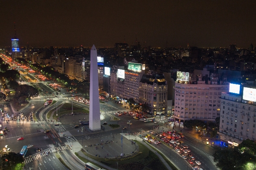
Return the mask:
[[99,112],[99,79],[97,49],[93,45],[90,52],[90,114],[89,129],[100,130],[100,112]]

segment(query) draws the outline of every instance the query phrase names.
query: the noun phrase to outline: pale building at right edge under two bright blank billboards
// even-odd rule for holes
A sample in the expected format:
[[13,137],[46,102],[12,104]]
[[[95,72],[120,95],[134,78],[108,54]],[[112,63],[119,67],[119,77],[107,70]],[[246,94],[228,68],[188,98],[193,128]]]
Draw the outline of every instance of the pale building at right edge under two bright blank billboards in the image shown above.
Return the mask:
[[250,89],[248,92],[244,90],[243,96],[230,92],[221,94],[221,118],[218,132],[221,145],[238,146],[247,138],[256,139],[256,104],[255,101],[254,103],[250,101],[256,93],[254,88],[247,88]]

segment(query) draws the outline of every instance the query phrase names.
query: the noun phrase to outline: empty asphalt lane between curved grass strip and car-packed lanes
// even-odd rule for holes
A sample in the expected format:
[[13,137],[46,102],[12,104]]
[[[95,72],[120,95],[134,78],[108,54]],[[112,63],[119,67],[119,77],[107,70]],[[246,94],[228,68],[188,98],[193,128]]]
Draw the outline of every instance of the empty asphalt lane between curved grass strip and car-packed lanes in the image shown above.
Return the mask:
[[[151,144],[152,147],[155,147],[155,144]],[[157,144],[157,150],[160,150],[162,153],[166,155],[168,159],[178,167],[180,170],[187,169],[187,161],[185,161],[175,150],[171,150],[171,148],[167,147],[164,144]]]

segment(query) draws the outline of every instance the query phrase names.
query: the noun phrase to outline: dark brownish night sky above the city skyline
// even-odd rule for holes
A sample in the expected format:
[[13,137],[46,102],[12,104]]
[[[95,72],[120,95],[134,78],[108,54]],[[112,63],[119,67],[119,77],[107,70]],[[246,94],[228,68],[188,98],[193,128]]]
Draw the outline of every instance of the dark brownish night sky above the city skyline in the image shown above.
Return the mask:
[[256,0],[0,0],[0,46],[256,46]]

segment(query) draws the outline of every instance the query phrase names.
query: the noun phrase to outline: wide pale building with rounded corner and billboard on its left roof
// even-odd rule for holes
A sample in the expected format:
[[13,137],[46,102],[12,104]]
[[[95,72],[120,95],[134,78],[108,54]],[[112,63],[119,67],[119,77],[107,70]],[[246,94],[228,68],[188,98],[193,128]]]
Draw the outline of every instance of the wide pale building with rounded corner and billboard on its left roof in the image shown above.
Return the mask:
[[229,91],[229,83],[217,81],[214,77],[208,81],[208,84],[205,84],[200,76],[189,77],[187,80],[179,80],[177,76],[173,87],[175,89],[174,117],[176,121],[179,125],[190,119],[215,121],[221,112],[221,92]]

